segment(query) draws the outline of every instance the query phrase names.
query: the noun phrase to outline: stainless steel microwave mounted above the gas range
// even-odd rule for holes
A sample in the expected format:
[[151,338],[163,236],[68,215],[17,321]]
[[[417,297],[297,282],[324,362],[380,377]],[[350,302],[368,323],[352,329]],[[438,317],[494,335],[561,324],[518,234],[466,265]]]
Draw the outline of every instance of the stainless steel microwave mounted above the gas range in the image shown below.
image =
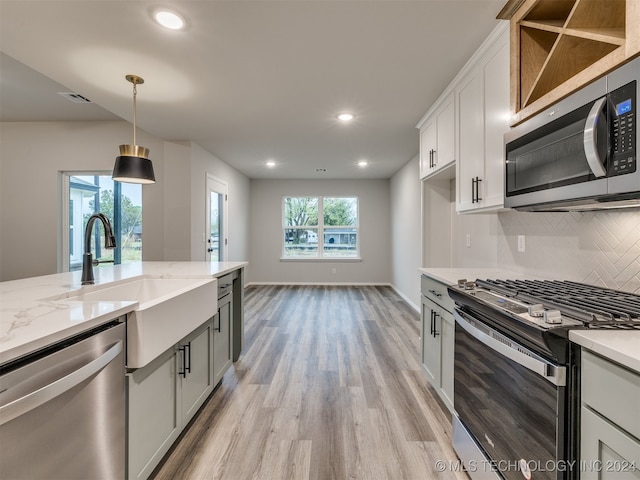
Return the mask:
[[640,207],[640,58],[505,134],[505,207]]

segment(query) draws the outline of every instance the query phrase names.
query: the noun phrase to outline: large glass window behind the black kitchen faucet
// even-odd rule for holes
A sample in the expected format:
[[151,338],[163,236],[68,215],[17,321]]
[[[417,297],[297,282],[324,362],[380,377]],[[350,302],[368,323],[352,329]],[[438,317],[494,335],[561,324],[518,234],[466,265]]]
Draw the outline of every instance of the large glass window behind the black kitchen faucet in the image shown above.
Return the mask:
[[105,249],[102,224],[91,235],[93,258],[107,264],[142,260],[142,185],[114,182],[106,172],[63,174],[62,271],[82,269],[84,230],[93,213],[104,213],[113,227],[117,247]]

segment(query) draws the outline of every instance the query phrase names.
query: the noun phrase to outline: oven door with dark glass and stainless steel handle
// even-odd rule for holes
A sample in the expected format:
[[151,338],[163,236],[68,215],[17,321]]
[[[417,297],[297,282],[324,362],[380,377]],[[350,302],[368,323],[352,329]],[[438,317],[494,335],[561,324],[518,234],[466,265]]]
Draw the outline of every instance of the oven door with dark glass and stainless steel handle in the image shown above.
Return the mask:
[[[565,367],[458,309],[455,319],[454,448],[470,476],[568,478],[562,471]],[[480,460],[469,455],[456,421],[476,444]]]

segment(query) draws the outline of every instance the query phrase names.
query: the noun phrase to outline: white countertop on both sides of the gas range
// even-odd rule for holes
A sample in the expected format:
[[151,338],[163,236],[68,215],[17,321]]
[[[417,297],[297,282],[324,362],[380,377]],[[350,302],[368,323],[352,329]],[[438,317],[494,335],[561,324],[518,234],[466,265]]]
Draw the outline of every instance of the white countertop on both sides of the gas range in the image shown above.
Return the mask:
[[[421,268],[420,273],[447,285],[456,285],[462,278],[544,279],[499,268]],[[569,340],[640,372],[640,330],[572,330]]]

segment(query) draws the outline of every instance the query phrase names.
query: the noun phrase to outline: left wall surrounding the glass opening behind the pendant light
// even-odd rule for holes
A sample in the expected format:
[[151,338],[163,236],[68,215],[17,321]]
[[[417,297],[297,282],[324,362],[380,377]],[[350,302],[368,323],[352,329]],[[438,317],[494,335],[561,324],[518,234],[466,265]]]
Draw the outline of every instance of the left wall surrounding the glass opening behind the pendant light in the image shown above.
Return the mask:
[[[138,131],[157,183],[142,187],[145,260],[164,249],[163,142]],[[0,280],[56,273],[61,224],[60,171],[111,171],[131,125],[115,122],[0,124]]]

